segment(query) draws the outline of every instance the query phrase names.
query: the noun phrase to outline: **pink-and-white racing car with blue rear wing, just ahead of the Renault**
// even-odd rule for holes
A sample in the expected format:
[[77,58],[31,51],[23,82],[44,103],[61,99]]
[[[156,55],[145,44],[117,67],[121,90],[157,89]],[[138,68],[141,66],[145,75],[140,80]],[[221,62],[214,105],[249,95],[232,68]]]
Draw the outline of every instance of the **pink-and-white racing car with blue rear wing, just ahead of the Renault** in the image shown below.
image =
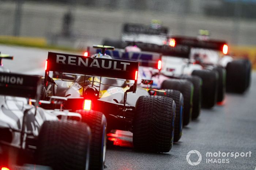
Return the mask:
[[[97,54],[101,52],[101,49],[87,47],[86,54]],[[164,81],[165,79],[169,79],[165,76],[161,76],[160,79],[152,80],[152,69],[161,67],[159,63],[161,62],[161,54],[152,53],[152,52],[144,52],[144,53],[134,53],[134,52],[123,52],[121,50],[106,50],[106,55],[111,56],[114,59],[123,59],[123,60],[130,60],[140,62],[139,72],[138,72],[138,81],[142,82],[139,83],[139,88],[142,88],[150,94],[160,95],[160,96],[167,96],[174,100],[176,103],[176,116],[175,116],[175,127],[174,127],[174,142],[177,142],[182,135],[182,122],[184,120],[184,98],[180,91],[178,90],[171,90],[171,89],[163,89],[163,90],[156,90],[161,89],[159,87],[159,81]],[[149,74],[147,74],[149,73]],[[146,80],[146,81],[145,81]],[[145,83],[148,82],[148,83]],[[156,93],[154,93],[156,92]],[[190,99],[190,96],[189,96]],[[186,99],[187,101],[187,99]],[[187,107],[187,106],[186,106]],[[187,108],[186,108],[187,109]],[[187,111],[187,110],[186,110]],[[188,115],[185,115],[189,117]]]

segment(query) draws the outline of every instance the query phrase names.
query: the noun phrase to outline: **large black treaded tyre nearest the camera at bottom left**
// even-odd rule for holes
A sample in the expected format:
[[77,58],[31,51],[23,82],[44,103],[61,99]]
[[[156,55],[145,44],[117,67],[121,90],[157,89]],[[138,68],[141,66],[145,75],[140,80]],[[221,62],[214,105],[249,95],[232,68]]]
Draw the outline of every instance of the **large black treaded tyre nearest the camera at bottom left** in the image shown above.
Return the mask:
[[90,127],[77,121],[46,121],[37,145],[37,164],[53,170],[88,169]]

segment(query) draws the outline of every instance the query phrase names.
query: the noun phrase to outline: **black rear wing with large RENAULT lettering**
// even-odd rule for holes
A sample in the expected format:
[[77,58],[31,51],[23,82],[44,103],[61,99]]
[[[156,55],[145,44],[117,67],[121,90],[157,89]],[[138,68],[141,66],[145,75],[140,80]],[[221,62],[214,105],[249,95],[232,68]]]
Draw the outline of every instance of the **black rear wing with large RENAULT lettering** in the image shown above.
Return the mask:
[[48,53],[45,71],[136,80],[139,62]]

